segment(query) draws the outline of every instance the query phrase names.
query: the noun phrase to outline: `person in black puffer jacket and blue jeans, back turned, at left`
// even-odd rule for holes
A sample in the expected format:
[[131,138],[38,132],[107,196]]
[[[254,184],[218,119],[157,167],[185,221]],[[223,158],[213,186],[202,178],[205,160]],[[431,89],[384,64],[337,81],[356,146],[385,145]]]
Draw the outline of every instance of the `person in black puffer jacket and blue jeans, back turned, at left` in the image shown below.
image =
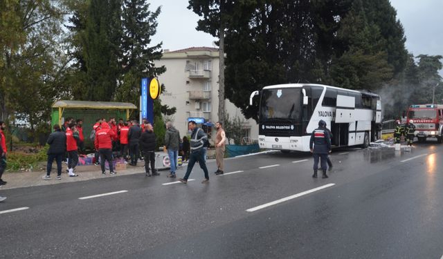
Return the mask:
[[62,159],[66,152],[66,134],[62,132],[62,129],[57,124],[54,125],[54,132],[48,137],[47,143],[48,149],[48,164],[46,166],[46,175],[44,180],[51,179],[51,169],[53,168],[53,162],[57,162],[57,180],[62,179]]

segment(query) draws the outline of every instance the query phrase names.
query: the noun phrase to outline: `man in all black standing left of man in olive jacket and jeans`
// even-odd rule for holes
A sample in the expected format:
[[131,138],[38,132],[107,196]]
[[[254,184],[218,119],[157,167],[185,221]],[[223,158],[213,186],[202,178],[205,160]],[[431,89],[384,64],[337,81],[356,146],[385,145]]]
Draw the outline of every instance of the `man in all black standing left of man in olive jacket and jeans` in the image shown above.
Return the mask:
[[143,150],[143,154],[145,155],[145,171],[146,176],[151,176],[150,174],[150,163],[152,175],[160,175],[157,173],[155,169],[155,133],[154,128],[152,128],[152,124],[150,122],[145,122],[145,132],[141,134],[140,137],[140,147]]

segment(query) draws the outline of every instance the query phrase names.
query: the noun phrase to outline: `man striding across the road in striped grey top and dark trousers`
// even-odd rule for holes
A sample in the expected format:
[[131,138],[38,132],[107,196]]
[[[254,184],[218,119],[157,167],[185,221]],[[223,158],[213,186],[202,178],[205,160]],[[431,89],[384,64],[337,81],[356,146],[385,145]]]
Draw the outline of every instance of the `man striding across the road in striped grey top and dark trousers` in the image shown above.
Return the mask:
[[189,127],[192,130],[191,134],[191,154],[188,163],[188,169],[186,170],[186,175],[184,178],[179,178],[180,182],[186,184],[188,182],[189,175],[192,171],[192,168],[195,165],[195,162],[199,162],[200,168],[203,169],[205,173],[205,179],[201,181],[202,184],[209,182],[209,173],[206,168],[206,162],[204,159],[203,146],[205,142],[208,140],[208,136],[203,132],[201,128],[197,128],[197,123],[195,121],[189,122]]

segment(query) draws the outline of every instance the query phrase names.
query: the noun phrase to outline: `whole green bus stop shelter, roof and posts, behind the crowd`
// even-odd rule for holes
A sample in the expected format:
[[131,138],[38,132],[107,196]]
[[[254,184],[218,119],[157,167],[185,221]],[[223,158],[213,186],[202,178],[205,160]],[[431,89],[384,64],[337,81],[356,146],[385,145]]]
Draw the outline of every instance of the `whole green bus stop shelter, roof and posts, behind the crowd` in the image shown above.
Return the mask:
[[89,101],[64,101],[60,100],[53,104],[51,113],[51,126],[64,124],[64,119],[73,117],[83,120],[83,134],[85,146],[92,146],[89,140],[93,124],[98,118],[115,117],[118,119],[129,119],[138,108],[127,102],[89,102]]

